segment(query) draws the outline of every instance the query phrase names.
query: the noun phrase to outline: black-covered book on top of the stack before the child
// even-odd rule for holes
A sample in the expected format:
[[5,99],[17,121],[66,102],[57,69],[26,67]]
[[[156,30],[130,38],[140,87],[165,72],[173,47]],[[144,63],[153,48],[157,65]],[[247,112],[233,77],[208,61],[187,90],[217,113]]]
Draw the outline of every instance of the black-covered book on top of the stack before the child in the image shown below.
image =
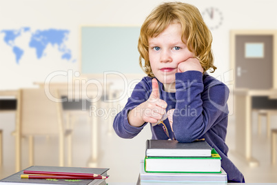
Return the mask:
[[176,140],[147,139],[147,157],[210,157],[212,147],[206,141],[179,143]]

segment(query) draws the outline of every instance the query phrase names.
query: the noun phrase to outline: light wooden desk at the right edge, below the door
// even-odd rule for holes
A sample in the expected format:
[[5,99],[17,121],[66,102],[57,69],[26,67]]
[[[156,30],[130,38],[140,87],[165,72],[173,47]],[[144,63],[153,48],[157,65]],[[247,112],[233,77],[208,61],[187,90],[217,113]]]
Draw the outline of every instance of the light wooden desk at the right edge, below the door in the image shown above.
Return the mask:
[[[256,104],[256,99],[267,99],[263,104]],[[236,153],[247,159],[250,166],[258,165],[258,161],[252,157],[252,110],[275,108],[271,106],[273,101],[277,105],[277,90],[234,90],[234,115],[236,118]],[[276,102],[276,103],[275,103]]]

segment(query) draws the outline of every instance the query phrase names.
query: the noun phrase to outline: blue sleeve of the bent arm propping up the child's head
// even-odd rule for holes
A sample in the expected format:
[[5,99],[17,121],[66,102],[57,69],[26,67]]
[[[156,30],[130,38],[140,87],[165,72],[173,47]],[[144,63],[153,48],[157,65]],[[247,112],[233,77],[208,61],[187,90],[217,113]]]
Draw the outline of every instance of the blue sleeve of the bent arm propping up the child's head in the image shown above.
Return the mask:
[[179,142],[193,142],[228,115],[229,89],[214,79],[205,86],[198,71],[176,73],[173,130]]

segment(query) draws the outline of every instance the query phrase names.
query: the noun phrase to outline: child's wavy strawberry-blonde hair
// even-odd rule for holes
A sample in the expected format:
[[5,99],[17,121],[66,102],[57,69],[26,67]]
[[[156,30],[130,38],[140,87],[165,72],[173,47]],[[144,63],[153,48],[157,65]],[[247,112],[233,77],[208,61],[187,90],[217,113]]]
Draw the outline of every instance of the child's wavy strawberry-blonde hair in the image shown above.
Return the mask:
[[212,33],[199,10],[195,6],[181,2],[161,4],[150,13],[141,26],[138,50],[139,65],[143,71],[148,76],[154,77],[149,60],[148,39],[158,36],[171,23],[181,24],[183,43],[187,44],[189,51],[200,61],[203,73],[210,68],[211,72],[214,72],[216,66],[212,54]]

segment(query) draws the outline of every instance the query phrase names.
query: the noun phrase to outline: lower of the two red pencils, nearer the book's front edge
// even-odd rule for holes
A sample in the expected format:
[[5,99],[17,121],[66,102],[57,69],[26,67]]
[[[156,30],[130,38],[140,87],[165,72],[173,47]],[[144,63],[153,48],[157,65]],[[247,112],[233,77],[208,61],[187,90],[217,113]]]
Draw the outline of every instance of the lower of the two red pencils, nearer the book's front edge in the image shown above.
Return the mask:
[[106,176],[80,177],[68,175],[21,175],[21,179],[107,179]]

